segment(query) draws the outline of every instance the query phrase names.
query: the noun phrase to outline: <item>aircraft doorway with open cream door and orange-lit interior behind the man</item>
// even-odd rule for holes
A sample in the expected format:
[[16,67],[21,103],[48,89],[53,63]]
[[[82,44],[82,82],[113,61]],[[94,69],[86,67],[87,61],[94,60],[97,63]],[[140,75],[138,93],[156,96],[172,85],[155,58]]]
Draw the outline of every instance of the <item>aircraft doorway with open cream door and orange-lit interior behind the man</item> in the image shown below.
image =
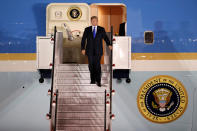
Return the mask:
[[[114,34],[119,34],[121,23],[126,22],[126,6],[115,3],[54,3],[47,8],[47,35],[53,33],[54,26],[57,31],[63,32],[63,63],[87,64],[86,56],[81,54],[81,38],[83,31],[91,25],[91,16],[98,16],[99,25],[104,27],[110,36],[111,26],[114,27]],[[104,44],[104,42],[103,42]],[[104,55],[101,63],[108,59],[105,44],[103,45]]]

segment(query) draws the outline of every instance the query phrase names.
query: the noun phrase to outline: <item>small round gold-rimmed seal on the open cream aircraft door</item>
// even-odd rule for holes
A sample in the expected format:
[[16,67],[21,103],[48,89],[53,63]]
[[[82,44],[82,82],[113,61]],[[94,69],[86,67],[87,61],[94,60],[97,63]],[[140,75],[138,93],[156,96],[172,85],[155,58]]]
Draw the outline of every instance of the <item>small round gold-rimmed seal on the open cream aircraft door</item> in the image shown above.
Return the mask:
[[70,7],[67,11],[67,16],[70,20],[79,20],[82,16],[82,11],[79,7]]

